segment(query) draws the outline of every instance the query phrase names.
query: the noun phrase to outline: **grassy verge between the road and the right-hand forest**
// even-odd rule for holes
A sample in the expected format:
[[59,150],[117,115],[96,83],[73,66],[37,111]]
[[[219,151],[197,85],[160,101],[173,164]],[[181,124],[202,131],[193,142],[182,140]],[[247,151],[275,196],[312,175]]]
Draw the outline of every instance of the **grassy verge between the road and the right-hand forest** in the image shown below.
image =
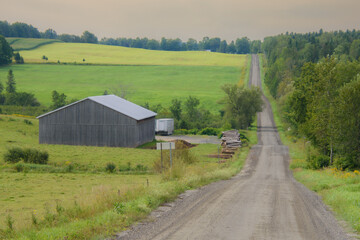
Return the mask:
[[[260,58],[261,65],[264,61]],[[262,69],[262,68],[261,68]],[[286,134],[276,101],[271,97],[264,84],[264,72],[261,73],[263,89],[269,99],[276,126],[283,144],[289,146],[291,163],[295,179],[319,194],[324,203],[330,206],[338,219],[345,220],[352,230],[360,232],[360,174],[359,171],[346,172],[335,168],[312,170],[307,168],[306,154],[314,151],[304,139],[296,139]]]

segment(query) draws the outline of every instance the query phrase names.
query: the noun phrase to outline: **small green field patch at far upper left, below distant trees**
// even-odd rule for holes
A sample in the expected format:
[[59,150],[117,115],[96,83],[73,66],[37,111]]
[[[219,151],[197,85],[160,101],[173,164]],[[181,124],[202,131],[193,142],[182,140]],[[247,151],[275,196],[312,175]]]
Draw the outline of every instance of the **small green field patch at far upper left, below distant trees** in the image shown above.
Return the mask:
[[15,51],[32,50],[40,46],[60,42],[56,39],[41,38],[6,38],[6,41]]

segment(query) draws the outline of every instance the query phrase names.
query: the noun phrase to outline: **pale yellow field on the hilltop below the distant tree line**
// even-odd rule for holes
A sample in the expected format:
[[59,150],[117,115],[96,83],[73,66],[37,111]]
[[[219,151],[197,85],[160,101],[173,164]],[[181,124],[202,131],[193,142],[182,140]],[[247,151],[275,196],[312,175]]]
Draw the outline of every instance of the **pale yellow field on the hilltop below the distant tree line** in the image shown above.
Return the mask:
[[[26,41],[26,40],[24,40]],[[15,42],[16,43],[16,42]],[[52,43],[31,51],[21,51],[25,62],[87,63],[110,65],[181,65],[181,66],[235,66],[244,64],[244,56],[204,51],[154,51],[86,43]],[[83,61],[85,59],[85,62]]]

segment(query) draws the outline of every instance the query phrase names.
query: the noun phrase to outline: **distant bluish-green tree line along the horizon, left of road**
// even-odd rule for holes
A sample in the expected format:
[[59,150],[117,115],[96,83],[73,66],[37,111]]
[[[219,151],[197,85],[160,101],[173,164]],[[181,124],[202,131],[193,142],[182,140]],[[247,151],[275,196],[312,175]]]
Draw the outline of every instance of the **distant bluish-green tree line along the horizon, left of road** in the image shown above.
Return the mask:
[[261,41],[251,41],[247,37],[238,38],[235,41],[227,42],[218,37],[204,37],[201,41],[190,38],[183,42],[180,38],[166,39],[160,41],[156,39],[144,38],[103,38],[100,41],[95,34],[84,31],[81,36],[71,34],[58,35],[55,30],[47,29],[40,32],[37,28],[26,23],[9,24],[7,21],[0,21],[0,35],[4,37],[22,38],[46,38],[59,39],[63,42],[75,43],[98,43],[104,45],[123,46],[131,48],[143,48],[163,51],[212,51],[221,53],[247,54],[259,53],[261,51]]

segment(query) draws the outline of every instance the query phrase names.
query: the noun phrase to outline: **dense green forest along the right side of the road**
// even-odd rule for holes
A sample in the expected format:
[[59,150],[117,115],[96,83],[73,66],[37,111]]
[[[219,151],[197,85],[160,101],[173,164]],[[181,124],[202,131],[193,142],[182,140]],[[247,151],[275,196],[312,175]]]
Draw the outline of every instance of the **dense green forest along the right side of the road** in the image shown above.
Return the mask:
[[287,33],[262,49],[288,131],[318,151],[310,166],[360,167],[360,31]]

